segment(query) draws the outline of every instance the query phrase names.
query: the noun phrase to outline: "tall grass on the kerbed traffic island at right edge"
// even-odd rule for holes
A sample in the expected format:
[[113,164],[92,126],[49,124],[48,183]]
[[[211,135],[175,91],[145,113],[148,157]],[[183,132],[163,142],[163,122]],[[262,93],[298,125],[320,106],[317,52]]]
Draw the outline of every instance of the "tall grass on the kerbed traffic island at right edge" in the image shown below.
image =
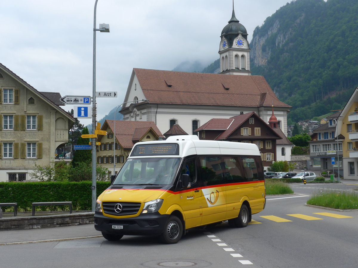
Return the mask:
[[307,204],[335,209],[358,209],[358,194],[344,191],[318,190]]

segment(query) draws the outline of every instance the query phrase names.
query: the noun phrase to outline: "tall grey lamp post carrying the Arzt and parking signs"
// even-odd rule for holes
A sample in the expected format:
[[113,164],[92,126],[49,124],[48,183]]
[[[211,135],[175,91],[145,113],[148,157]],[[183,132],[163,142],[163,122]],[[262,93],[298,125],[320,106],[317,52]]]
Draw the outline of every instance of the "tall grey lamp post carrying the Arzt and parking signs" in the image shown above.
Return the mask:
[[[96,31],[109,33],[110,26],[108,24],[100,24],[100,28],[96,29],[96,9],[97,1],[95,2],[95,10],[93,14],[93,76],[92,76],[92,134],[96,130]],[[96,207],[96,138],[91,139],[92,149],[92,212],[95,212]]]

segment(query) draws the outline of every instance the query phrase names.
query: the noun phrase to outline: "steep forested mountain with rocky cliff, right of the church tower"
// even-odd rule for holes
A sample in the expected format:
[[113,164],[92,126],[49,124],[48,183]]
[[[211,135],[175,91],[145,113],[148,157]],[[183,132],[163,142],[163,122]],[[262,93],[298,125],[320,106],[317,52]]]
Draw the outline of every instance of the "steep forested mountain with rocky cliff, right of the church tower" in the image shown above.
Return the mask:
[[357,17],[357,0],[296,0],[254,30],[252,75],[293,107],[289,123],[342,109],[358,86]]

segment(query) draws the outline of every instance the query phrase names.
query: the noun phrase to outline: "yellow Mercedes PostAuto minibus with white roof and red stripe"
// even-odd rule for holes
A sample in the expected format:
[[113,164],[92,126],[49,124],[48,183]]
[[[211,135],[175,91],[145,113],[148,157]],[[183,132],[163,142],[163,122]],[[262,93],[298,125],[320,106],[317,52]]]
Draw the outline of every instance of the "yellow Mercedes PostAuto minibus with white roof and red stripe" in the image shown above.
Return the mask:
[[173,244],[198,226],[228,220],[246,227],[265,204],[255,144],[172,136],[134,145],[97,199],[95,228],[107,240],[159,235]]

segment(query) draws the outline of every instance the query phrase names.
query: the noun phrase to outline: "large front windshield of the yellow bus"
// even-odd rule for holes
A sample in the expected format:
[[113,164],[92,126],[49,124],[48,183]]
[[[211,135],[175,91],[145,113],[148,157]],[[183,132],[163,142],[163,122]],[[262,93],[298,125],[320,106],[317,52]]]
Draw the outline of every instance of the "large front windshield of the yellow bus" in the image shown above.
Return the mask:
[[180,158],[135,158],[127,159],[113,184],[155,185],[173,184]]

